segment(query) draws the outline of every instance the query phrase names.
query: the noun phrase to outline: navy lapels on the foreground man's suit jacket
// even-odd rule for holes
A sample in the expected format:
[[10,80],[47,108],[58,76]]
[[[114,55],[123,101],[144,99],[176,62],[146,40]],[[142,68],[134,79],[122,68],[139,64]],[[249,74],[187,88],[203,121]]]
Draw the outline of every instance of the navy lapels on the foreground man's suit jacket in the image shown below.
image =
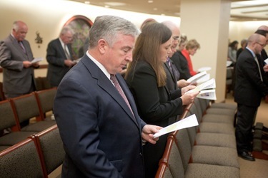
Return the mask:
[[[111,98],[114,98],[116,103],[118,103],[121,106],[121,108],[127,113],[127,115],[129,115],[129,117],[131,117],[131,120],[133,120],[135,122],[135,124],[138,125],[137,119],[136,119],[136,117],[138,116],[137,108],[136,108],[136,105],[134,103],[134,99],[131,96],[131,93],[129,93],[129,90],[127,89],[126,84],[122,82],[122,80],[124,80],[124,79],[116,77],[119,80],[119,84],[121,85],[121,88],[124,91],[126,98],[129,100],[129,104],[131,105],[131,108],[132,108],[132,111],[134,112],[135,117],[132,114],[129,107],[126,105],[126,102],[124,101],[124,99],[121,97],[119,92],[116,90],[114,85],[111,83],[109,78],[106,77],[106,75],[99,69],[99,67],[96,66],[96,64],[93,61],[91,61],[91,59],[88,58],[86,55],[81,59],[81,62],[84,63],[86,68],[88,68],[92,77],[96,78],[96,80],[98,80],[99,87],[101,87],[103,90],[105,90],[106,93],[109,93],[109,95],[111,95]],[[117,75],[119,75],[119,74],[117,74]]]

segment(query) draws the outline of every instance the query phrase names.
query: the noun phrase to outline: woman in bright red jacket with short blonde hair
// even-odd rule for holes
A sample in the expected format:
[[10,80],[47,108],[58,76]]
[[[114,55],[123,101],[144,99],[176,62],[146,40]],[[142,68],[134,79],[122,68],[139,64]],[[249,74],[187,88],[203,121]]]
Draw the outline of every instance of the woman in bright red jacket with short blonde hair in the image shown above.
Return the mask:
[[182,54],[187,59],[189,71],[190,71],[190,74],[192,76],[193,75],[196,75],[197,72],[194,71],[194,68],[193,68],[193,65],[192,65],[191,56],[194,56],[194,54],[197,53],[197,49],[199,49],[199,48],[200,48],[200,45],[197,42],[197,40],[192,39],[192,40],[189,40],[188,41],[187,45],[185,46],[185,49],[182,50]]

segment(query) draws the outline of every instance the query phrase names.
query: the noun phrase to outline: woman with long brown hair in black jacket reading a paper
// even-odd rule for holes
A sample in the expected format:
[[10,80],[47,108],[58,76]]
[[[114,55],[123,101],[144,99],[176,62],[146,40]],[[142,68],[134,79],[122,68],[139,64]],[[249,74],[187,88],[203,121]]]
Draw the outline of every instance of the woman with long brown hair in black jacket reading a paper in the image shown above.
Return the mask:
[[[199,93],[188,93],[184,88],[178,95],[170,95],[166,86],[167,62],[172,46],[172,31],[162,23],[150,23],[142,28],[134,47],[133,61],[126,70],[126,83],[134,96],[139,115],[148,124],[166,127],[169,118],[181,115],[182,105],[192,103]],[[173,120],[174,122],[174,120]],[[161,159],[167,135],[159,137],[156,145],[144,145],[145,176],[154,177]]]

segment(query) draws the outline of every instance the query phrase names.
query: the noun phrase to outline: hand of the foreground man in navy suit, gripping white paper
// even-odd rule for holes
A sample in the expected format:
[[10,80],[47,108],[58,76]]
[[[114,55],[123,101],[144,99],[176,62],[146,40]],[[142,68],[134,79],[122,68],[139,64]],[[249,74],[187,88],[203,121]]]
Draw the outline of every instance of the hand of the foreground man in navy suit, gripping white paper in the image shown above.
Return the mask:
[[162,129],[162,127],[157,125],[145,125],[142,128],[142,139],[152,144],[156,144],[159,138],[154,138],[154,134],[159,132],[160,129]]

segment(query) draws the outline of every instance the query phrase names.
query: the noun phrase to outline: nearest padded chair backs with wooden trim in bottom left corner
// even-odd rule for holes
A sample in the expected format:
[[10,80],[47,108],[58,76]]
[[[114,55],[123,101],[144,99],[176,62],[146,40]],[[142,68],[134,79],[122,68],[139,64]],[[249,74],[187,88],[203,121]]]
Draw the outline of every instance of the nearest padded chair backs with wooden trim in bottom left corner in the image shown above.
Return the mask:
[[0,152],[1,177],[48,177],[64,160],[56,125]]

